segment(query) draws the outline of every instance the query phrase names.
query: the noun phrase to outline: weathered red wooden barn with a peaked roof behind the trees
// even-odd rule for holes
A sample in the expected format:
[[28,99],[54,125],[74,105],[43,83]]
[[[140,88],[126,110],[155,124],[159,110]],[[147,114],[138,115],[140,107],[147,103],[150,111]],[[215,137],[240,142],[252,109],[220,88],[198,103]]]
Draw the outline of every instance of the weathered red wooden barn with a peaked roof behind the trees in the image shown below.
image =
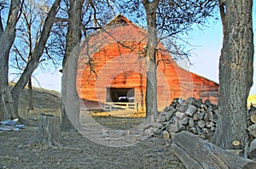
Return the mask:
[[[81,44],[77,88],[87,109],[145,110],[147,31],[118,15]],[[157,100],[162,110],[174,98],[218,101],[218,84],[179,67],[159,42]]]

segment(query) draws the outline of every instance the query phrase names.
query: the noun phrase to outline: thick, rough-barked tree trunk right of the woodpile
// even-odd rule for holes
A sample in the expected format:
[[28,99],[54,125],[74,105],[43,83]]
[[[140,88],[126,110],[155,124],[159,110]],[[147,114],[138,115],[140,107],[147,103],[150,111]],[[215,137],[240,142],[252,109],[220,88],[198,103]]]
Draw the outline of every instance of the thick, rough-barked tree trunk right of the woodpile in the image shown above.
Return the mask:
[[224,42],[219,61],[219,115],[212,143],[224,149],[247,143],[247,97],[253,85],[253,0],[225,3]]

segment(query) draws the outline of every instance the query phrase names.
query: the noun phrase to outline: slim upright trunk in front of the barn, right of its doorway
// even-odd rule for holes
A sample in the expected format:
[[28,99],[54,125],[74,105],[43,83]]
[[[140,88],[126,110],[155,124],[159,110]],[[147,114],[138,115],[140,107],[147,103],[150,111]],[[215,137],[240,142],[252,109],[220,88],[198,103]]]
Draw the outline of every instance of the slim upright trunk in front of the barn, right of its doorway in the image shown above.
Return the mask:
[[156,9],[159,0],[152,2],[143,0],[143,6],[147,13],[148,43],[147,43],[147,89],[146,89],[146,121],[154,122],[157,116],[157,78],[155,51],[157,47],[156,36]]

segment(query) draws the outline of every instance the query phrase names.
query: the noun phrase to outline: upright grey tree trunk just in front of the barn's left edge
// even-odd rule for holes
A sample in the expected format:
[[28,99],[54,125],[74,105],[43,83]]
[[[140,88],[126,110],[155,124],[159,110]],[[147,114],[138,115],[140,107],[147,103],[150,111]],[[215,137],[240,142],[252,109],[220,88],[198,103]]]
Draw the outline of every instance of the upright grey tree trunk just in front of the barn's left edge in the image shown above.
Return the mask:
[[81,41],[83,0],[70,0],[68,11],[67,46],[61,78],[61,129],[79,127],[80,102],[76,89],[79,47]]

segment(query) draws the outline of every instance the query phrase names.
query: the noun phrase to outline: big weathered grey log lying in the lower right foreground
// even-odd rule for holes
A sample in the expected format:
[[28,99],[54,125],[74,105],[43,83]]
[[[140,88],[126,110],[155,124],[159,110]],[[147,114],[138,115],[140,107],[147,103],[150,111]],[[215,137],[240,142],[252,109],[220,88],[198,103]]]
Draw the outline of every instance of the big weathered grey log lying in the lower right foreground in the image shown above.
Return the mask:
[[256,161],[233,155],[190,132],[172,135],[172,151],[186,168],[255,168]]

